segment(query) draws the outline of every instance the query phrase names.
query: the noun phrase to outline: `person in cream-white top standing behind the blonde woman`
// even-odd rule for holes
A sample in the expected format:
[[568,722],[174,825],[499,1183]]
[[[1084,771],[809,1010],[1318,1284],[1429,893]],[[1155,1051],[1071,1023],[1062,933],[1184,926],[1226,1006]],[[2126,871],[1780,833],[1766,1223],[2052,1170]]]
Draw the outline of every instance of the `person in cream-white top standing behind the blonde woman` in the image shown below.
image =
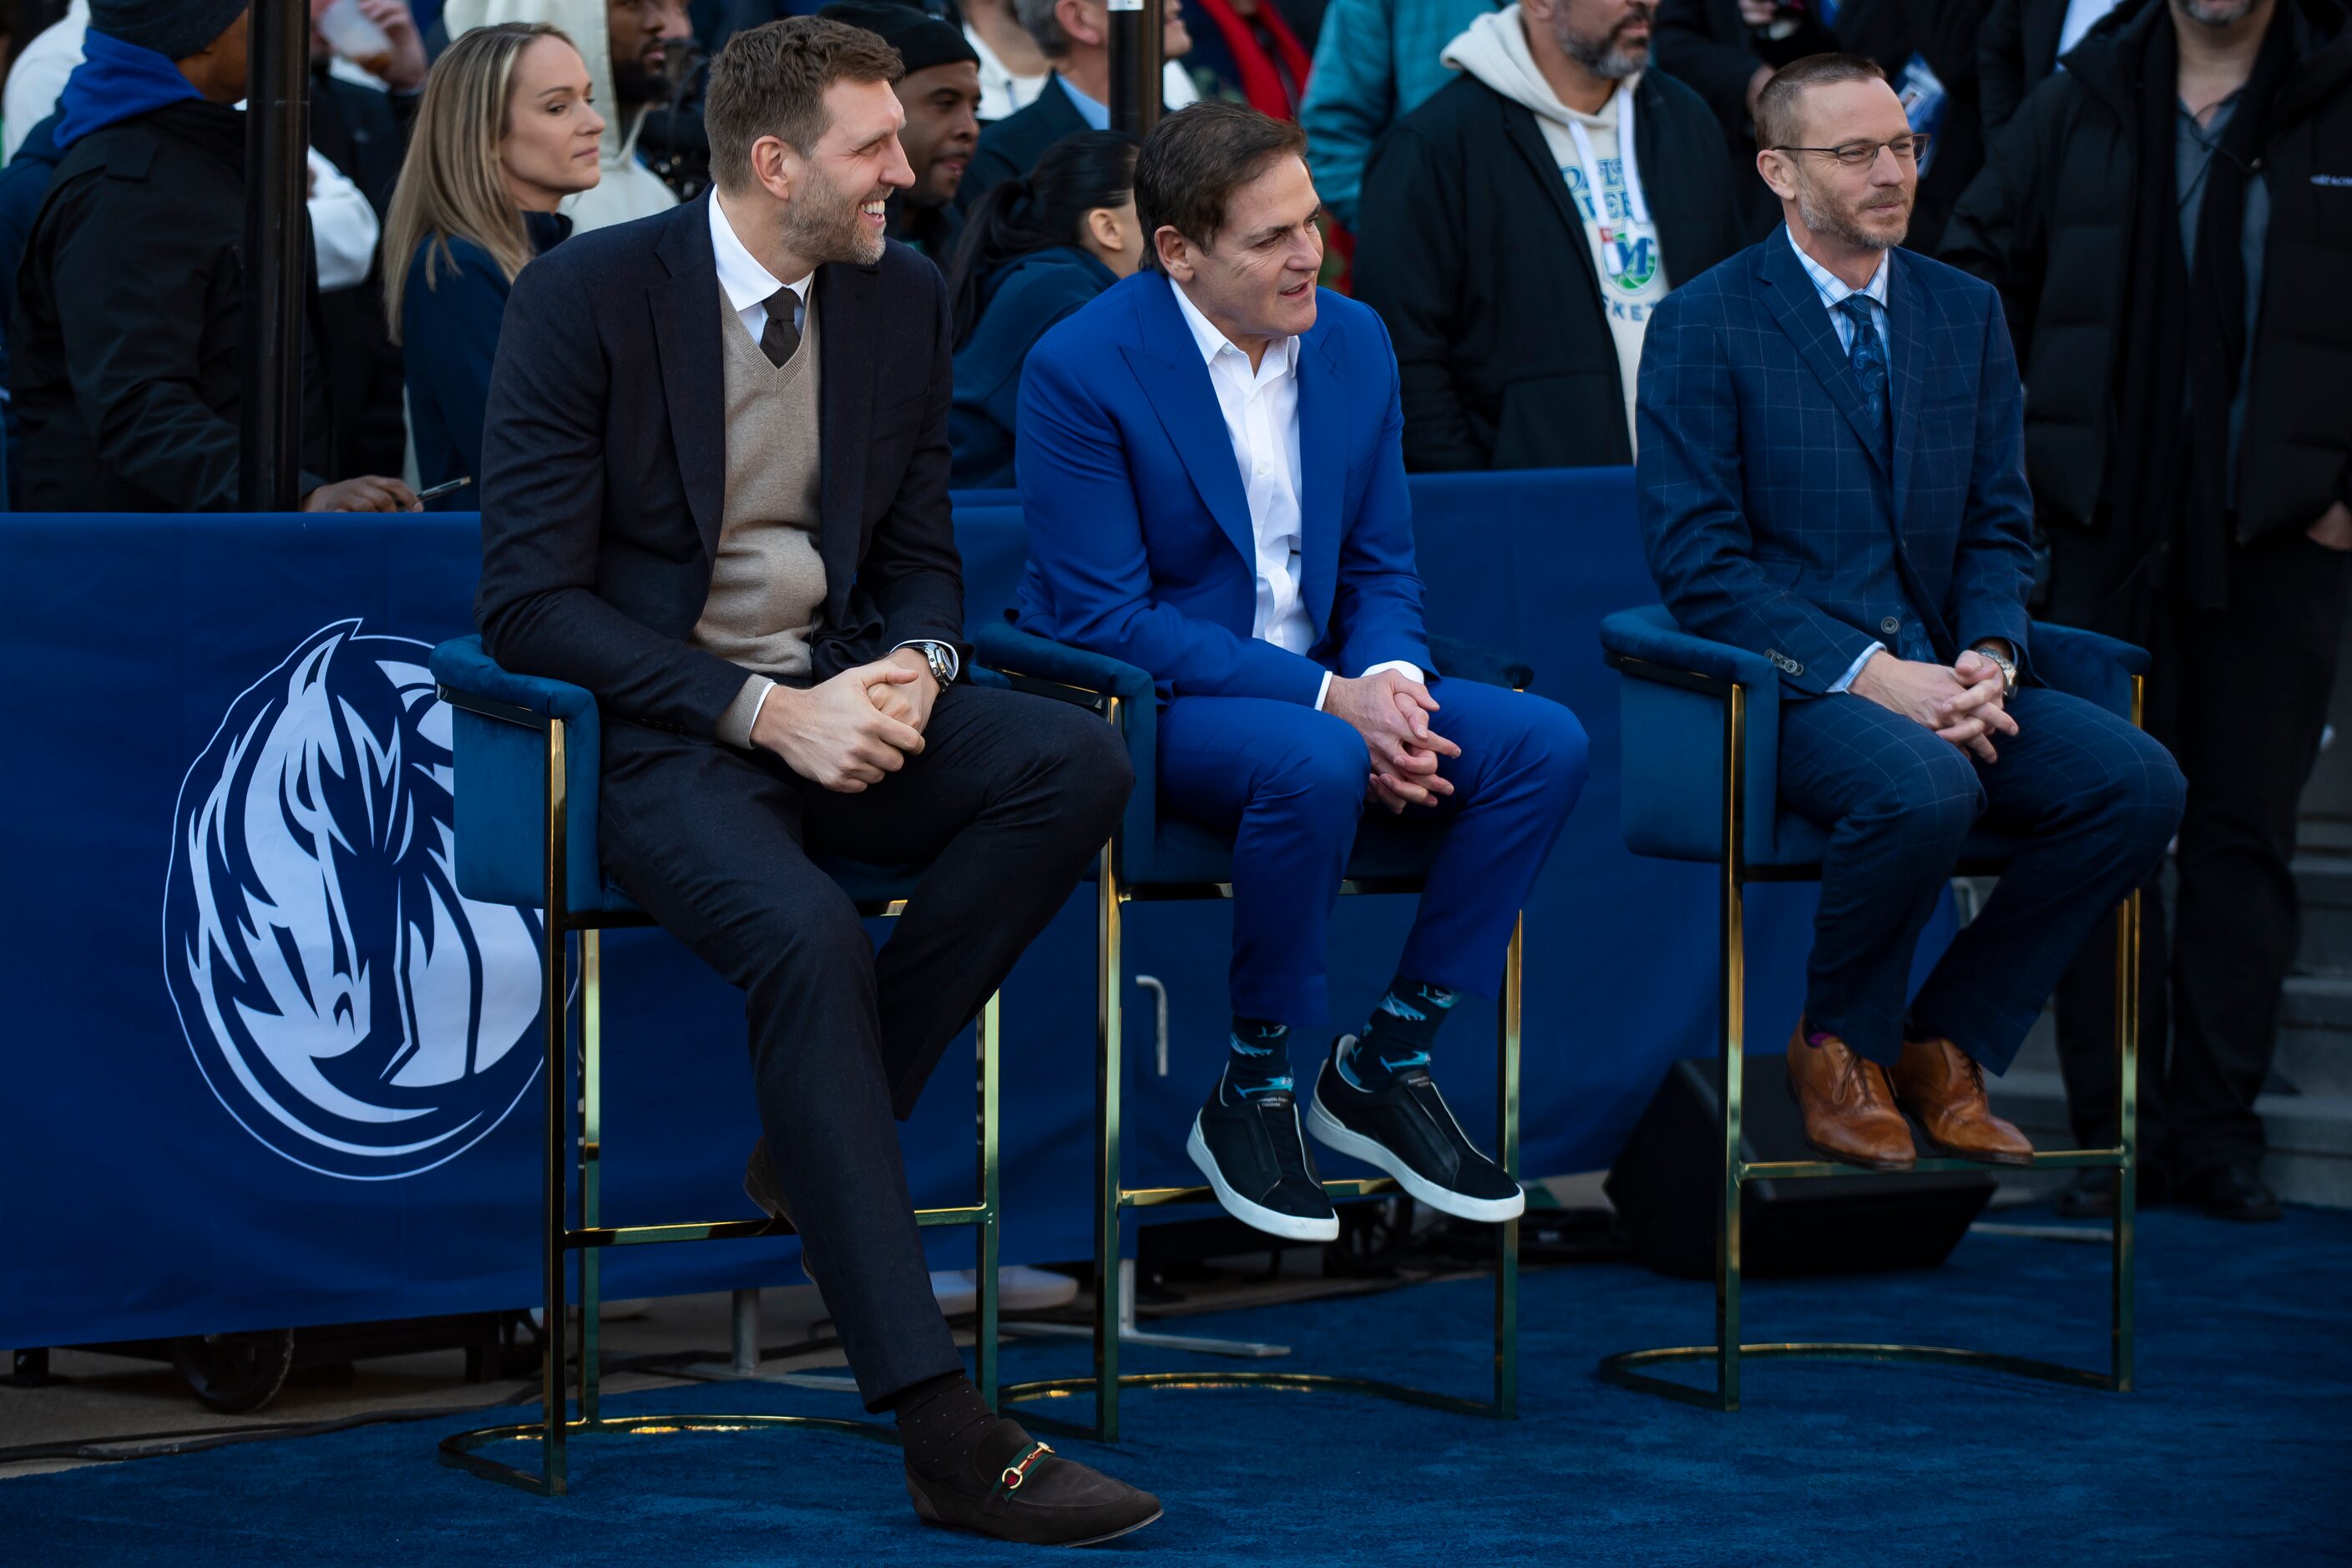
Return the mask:
[[694,38],[687,0],[449,0],[449,38],[496,21],[546,21],[562,28],[588,63],[595,101],[604,110],[604,176],[593,190],[564,197],[572,233],[628,223],[677,205],[677,193],[637,158],[644,110],[668,96],[663,63],[673,42]]

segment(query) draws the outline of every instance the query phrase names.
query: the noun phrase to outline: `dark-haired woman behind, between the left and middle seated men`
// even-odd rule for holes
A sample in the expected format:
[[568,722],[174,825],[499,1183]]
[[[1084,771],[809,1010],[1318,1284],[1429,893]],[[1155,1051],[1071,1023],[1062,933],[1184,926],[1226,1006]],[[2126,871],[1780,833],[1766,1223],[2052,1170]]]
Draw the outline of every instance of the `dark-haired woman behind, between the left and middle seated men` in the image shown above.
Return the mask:
[[1014,409],[1030,346],[1138,266],[1134,136],[1063,136],[1028,179],[1009,179],[981,197],[948,266],[955,303],[948,440],[957,489],[1014,482]]

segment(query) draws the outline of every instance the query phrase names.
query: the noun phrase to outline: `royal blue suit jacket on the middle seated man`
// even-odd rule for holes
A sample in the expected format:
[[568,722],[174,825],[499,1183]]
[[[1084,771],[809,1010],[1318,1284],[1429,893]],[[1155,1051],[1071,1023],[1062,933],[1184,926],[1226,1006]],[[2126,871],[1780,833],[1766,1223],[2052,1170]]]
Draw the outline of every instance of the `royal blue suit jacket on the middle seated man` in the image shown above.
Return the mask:
[[1367,306],[1319,292],[1298,350],[1312,649],[1249,635],[1258,588],[1242,468],[1162,273],[1105,289],[1044,334],[1021,374],[1023,630],[1148,670],[1162,701],[1312,705],[1327,670],[1352,677],[1406,658],[1435,672],[1388,329]]

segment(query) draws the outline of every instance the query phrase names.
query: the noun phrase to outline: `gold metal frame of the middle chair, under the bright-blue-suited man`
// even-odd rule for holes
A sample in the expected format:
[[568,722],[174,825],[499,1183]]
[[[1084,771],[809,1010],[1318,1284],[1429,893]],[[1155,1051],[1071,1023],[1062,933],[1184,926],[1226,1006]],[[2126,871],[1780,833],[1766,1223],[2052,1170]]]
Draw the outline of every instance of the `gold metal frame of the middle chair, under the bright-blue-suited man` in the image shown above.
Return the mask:
[[[1049,689],[1054,682],[1018,677],[1016,684]],[[1056,696],[1070,696],[1073,686],[1058,686]],[[1122,705],[1110,693],[1082,693],[1096,712],[1122,726]],[[1416,893],[1411,879],[1350,879],[1341,893]],[[1249,1373],[1249,1371],[1185,1371],[1185,1373],[1122,1373],[1120,1371],[1120,1220],[1129,1208],[1167,1208],[1174,1204],[1214,1204],[1209,1187],[1124,1187],[1120,1171],[1120,1098],[1122,1098],[1122,1006],[1120,987],[1124,978],[1120,905],[1162,900],[1232,898],[1230,882],[1167,884],[1150,889],[1122,886],[1115,872],[1115,846],[1103,849],[1101,882],[1096,889],[1096,1065],[1094,1065],[1094,1373],[1082,1378],[1042,1378],[1004,1385],[1004,1406],[1035,1399],[1075,1399],[1094,1394],[1094,1425],[1065,1422],[1051,1415],[1023,1413],[1033,1427],[1068,1436],[1089,1436],[1098,1443],[1120,1441],[1120,1389],[1294,1389],[1294,1392],[1348,1392],[1376,1394],[1402,1403],[1456,1410],[1468,1415],[1494,1415],[1512,1420],[1519,1413],[1519,1220],[1503,1220],[1498,1232],[1498,1258],[1494,1276],[1494,1399],[1465,1399],[1461,1394],[1437,1394],[1430,1389],[1383,1382],[1376,1378],[1345,1378],[1331,1373]],[[1512,1178],[1519,1175],[1519,976],[1522,976],[1522,929],[1512,922],[1510,950],[1503,961],[1503,997],[1496,1004],[1496,1138],[1501,1166]],[[1329,1180],[1324,1192],[1334,1199],[1376,1197],[1402,1192],[1388,1178]]]

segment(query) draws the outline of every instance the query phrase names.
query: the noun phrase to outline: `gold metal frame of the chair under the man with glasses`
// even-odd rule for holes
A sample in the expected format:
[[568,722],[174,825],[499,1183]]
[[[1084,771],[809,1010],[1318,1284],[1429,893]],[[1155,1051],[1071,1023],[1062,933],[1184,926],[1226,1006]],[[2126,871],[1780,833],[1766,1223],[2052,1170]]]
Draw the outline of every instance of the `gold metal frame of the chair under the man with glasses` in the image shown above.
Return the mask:
[[[1740,1361],[1912,1361],[1926,1366],[1964,1366],[1985,1373],[2011,1373],[2018,1378],[2042,1378],[2089,1389],[2131,1392],[2131,1293],[2133,1293],[2133,1204],[2138,1199],[2138,1060],[2140,1060],[2140,893],[2133,891],[2117,907],[2119,940],[2114,964],[2117,1027],[2114,1053],[2122,1067],[2117,1077],[2117,1128],[2122,1143],[2112,1150],[2053,1150],[2037,1152],[2034,1171],[2082,1171],[2112,1168],[2114,1178],[2114,1227],[2112,1227],[2112,1309],[2110,1309],[2110,1368],[2105,1373],[2037,1361],[2030,1356],[2006,1356],[1983,1349],[1955,1349],[1943,1345],[1858,1345],[1832,1340],[1799,1342],[1743,1342],[1740,1340],[1740,1190],[1764,1180],[1837,1180],[1865,1173],[1828,1159],[1740,1159],[1740,1058],[1748,1001],[1748,959],[1743,940],[1743,889],[1750,882],[1813,882],[1818,867],[1762,867],[1748,865],[1743,853],[1743,827],[1748,813],[1748,788],[1743,757],[1748,748],[1748,689],[1693,670],[1675,670],[1642,658],[1613,654],[1609,663],[1628,677],[1663,682],[1715,696],[1724,705],[1724,858],[1717,877],[1722,914],[1722,1067],[1724,1067],[1724,1178],[1722,1213],[1715,1241],[1715,1345],[1677,1345],[1670,1349],[1628,1349],[1602,1356],[1599,1375],[1628,1389],[1663,1394],[1710,1410],[1740,1408]],[[2131,722],[2140,722],[2140,677],[2131,679]],[[1990,875],[1997,867],[1957,867],[1957,875]],[[1912,1173],[1985,1171],[1966,1159],[1922,1159]],[[1715,1363],[1715,1387],[1696,1387],[1672,1378],[1658,1378],[1644,1368],[1668,1363]]]

